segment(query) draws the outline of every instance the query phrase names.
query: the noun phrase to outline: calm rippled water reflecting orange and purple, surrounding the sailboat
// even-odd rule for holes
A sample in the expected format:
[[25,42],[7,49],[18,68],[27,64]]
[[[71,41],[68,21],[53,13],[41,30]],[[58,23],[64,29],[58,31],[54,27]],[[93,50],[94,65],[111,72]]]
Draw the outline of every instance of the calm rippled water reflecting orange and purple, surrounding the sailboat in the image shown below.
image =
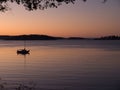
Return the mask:
[[120,40],[27,41],[26,56],[20,48],[0,41],[0,90],[120,90]]

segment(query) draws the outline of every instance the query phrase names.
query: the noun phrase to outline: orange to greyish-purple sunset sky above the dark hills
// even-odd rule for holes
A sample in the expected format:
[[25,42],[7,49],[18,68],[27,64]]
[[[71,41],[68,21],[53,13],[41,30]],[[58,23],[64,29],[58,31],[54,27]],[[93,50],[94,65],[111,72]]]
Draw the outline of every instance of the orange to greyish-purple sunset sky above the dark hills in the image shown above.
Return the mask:
[[9,4],[0,12],[0,35],[46,34],[51,36],[99,37],[120,35],[120,0],[77,0],[75,4],[27,11]]

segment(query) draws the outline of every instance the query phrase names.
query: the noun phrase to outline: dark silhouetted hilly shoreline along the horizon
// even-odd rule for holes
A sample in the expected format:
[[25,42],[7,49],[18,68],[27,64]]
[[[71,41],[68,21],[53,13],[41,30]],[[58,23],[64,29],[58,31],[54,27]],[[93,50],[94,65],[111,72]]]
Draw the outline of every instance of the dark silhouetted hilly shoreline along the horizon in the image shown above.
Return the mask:
[[30,35],[0,35],[0,40],[120,40],[120,36],[104,36],[96,38],[84,38],[84,37],[54,37],[48,35],[30,34]]

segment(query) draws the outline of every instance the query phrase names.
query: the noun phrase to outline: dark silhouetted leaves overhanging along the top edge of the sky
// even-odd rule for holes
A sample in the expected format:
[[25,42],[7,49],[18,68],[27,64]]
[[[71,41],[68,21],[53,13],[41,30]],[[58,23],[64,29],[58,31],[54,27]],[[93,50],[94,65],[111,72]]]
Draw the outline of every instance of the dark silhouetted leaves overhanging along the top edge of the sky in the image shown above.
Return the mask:
[[[27,10],[44,10],[47,8],[57,8],[58,6],[62,5],[62,3],[75,3],[76,0],[0,0],[0,11],[4,12],[9,10],[9,3],[16,3],[18,5],[23,5]],[[82,0],[86,2],[87,0]],[[107,0],[103,0],[106,2]]]

